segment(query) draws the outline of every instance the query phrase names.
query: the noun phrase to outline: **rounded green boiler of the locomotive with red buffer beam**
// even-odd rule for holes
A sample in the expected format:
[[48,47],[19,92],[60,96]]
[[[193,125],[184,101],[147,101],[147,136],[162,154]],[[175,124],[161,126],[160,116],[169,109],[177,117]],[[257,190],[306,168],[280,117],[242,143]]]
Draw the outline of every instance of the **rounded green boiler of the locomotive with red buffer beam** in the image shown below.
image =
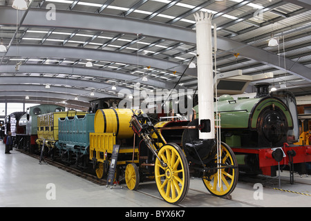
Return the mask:
[[297,117],[281,99],[269,95],[268,86],[256,85],[258,93],[252,99],[220,96],[217,111],[223,140],[229,146],[276,147],[294,139],[288,131],[294,128]]

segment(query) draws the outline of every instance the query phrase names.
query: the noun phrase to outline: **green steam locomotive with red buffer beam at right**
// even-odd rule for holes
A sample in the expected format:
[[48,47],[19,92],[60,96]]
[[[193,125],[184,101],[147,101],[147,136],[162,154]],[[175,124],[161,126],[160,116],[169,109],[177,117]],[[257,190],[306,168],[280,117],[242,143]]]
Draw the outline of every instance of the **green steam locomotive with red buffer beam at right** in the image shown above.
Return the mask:
[[305,174],[311,146],[299,143],[296,99],[286,90],[270,93],[269,86],[257,84],[255,97],[218,98],[221,140],[234,151],[240,172],[274,177],[281,164],[281,169]]

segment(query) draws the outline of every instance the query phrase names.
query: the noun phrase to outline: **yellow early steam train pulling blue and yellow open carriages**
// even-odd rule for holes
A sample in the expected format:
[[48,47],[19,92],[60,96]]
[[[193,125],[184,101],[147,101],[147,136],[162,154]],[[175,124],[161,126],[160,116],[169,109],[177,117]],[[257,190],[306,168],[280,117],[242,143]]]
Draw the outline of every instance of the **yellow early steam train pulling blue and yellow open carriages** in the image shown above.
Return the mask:
[[[156,180],[164,200],[173,204],[181,202],[189,189],[191,164],[191,169],[197,171],[212,194],[229,195],[236,186],[238,176],[236,159],[229,146],[222,144],[221,148],[226,154],[223,155],[221,173],[217,175],[220,164],[216,161],[216,146],[212,146],[209,153],[202,157],[204,164],[188,164],[180,146],[181,142],[177,142],[180,137],[173,140],[173,136],[164,132],[167,128],[162,130],[164,125],[185,126],[187,123],[167,121],[155,124],[155,127],[141,110],[129,108],[110,107],[98,109],[96,113],[51,111],[37,115],[37,150],[44,149],[46,156],[53,160],[60,157],[66,164],[75,164],[82,168],[93,166],[97,177],[103,178],[108,175],[113,149],[118,145],[120,150],[115,180],[119,176],[126,177],[129,189],[136,189],[135,186],[139,183],[135,182],[133,186],[133,178],[129,173],[133,174],[133,170],[138,171],[139,168],[140,172],[135,177],[140,176],[140,182],[146,179]],[[144,130],[138,131],[135,126],[141,126]],[[152,133],[150,129],[153,130]],[[170,131],[178,134],[172,132],[173,129]],[[151,148],[148,146],[149,142],[152,142]],[[163,166],[167,169],[163,170]],[[224,177],[226,182],[221,182],[217,187],[218,180],[223,179],[220,177]],[[168,183],[165,181],[167,179]]]

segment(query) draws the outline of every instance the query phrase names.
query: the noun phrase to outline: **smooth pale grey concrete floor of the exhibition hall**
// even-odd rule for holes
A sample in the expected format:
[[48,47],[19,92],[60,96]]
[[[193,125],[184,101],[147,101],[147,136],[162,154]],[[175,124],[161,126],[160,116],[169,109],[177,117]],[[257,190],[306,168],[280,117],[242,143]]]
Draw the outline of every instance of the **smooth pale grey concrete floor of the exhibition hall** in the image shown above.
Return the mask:
[[[40,165],[38,160],[19,151],[13,150],[11,153],[5,154],[4,144],[0,144],[0,206],[176,207],[160,198],[155,182],[140,184],[138,191],[129,191],[126,186],[123,189],[110,189],[55,166]],[[288,182],[287,172],[282,173],[281,177],[281,189],[290,192],[273,189],[279,188],[278,181],[261,177],[259,181],[238,182],[232,193],[232,200],[214,197],[205,189],[202,180],[194,178],[191,179],[187,197],[180,206],[311,206],[311,176],[295,175],[293,185]],[[255,182],[268,186],[263,187],[262,198],[257,200],[254,194],[260,195],[257,194],[257,189],[254,189]]]

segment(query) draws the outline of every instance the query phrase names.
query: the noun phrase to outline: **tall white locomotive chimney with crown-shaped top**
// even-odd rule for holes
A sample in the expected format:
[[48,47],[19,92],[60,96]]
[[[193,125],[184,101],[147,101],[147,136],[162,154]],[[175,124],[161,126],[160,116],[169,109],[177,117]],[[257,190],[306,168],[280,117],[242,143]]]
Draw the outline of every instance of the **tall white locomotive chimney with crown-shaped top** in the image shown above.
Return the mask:
[[200,139],[215,138],[213,55],[211,49],[211,14],[201,12],[196,19],[196,50],[198,54],[198,112],[199,121],[210,119],[211,132],[199,133]]

